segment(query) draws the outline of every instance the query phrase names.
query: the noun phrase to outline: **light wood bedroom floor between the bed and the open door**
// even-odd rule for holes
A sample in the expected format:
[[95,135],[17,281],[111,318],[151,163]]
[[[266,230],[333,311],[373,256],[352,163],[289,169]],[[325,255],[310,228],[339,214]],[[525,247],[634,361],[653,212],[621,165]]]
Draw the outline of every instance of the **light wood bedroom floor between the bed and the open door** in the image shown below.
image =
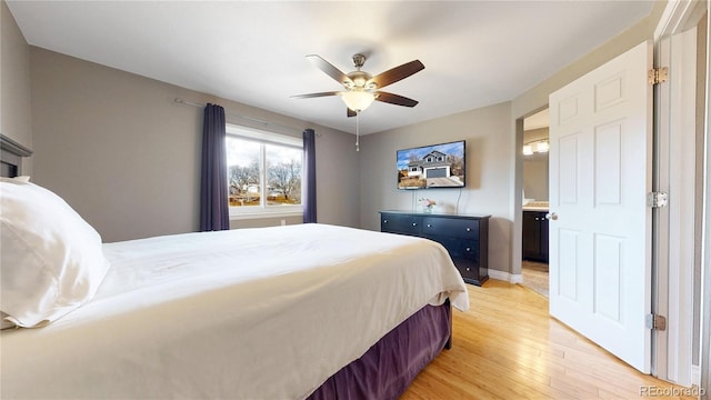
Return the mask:
[[490,279],[468,288],[470,310],[453,310],[452,349],[401,400],[639,399],[652,398],[642,396],[644,388],[657,394],[681,389],[635,371],[550,318],[548,299],[525,287]]

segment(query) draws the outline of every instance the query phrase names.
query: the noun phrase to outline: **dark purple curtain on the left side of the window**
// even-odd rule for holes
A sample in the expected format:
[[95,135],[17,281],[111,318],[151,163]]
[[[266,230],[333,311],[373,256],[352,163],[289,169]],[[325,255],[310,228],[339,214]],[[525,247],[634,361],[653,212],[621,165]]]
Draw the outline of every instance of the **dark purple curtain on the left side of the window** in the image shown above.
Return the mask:
[[200,231],[230,229],[224,109],[208,103],[202,128]]

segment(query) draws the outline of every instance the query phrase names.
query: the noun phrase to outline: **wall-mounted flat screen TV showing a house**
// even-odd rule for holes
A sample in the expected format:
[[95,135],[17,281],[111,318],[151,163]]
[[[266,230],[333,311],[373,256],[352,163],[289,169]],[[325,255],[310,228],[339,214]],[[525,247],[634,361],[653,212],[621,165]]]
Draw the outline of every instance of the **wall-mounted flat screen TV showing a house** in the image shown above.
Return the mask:
[[463,140],[398,150],[398,189],[463,188]]

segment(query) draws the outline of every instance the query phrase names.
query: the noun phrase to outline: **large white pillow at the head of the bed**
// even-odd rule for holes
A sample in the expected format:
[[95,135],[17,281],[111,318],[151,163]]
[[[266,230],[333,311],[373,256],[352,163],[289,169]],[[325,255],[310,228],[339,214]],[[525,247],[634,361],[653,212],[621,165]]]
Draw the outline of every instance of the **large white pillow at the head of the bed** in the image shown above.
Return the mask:
[[91,299],[109,262],[99,233],[64,200],[27,179],[2,178],[0,269],[0,310],[31,328]]

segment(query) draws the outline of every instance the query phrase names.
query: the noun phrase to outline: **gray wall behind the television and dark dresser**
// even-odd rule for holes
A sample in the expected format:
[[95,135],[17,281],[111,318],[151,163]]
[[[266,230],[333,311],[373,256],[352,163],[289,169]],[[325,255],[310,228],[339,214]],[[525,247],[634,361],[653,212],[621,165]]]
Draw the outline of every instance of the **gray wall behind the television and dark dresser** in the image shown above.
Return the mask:
[[[491,214],[489,268],[508,271],[510,160],[514,151],[510,118],[510,103],[505,102],[361,138],[361,227],[379,230],[378,211],[411,210],[413,200],[423,197],[437,201],[437,212]],[[395,189],[397,150],[455,140],[467,141],[464,189]]]

